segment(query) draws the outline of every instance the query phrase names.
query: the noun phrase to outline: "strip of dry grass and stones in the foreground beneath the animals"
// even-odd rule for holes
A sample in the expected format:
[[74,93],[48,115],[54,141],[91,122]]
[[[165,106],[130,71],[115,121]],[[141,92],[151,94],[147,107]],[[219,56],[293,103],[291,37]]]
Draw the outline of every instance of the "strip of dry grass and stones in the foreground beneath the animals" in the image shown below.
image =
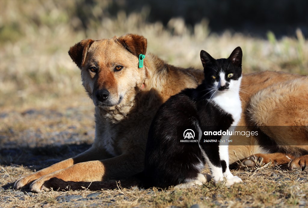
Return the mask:
[[[30,173],[22,166],[1,167],[1,184],[17,179],[20,174]],[[3,178],[4,174],[10,177]],[[93,201],[64,202],[59,204],[55,197],[62,195],[82,195],[84,198],[93,192],[68,191],[47,192],[34,194],[34,197],[25,196],[21,201],[9,187],[0,190],[1,207],[191,207],[198,204],[200,207],[307,207],[307,172],[298,170],[286,171],[279,167],[254,168],[248,171],[233,171],[233,174],[242,178],[243,183],[231,187],[215,185],[209,182],[196,189],[190,190],[139,190],[115,189],[103,190],[101,195]],[[301,179],[299,179],[301,178]],[[123,195],[117,195],[123,194]],[[10,202],[1,202],[1,200]]]

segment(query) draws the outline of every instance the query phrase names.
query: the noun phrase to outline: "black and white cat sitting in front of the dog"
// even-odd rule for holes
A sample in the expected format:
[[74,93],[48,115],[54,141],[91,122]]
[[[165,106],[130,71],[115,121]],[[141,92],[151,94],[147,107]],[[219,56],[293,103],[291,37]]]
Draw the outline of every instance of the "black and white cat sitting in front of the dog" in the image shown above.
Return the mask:
[[[241,182],[230,173],[228,143],[220,142],[229,136],[205,136],[204,132],[230,132],[240,120],[242,50],[235,48],[228,59],[214,59],[205,51],[200,56],[203,83],[170,97],[152,121],[145,152],[144,188],[201,185],[206,181],[201,174],[205,164],[216,183],[230,186]],[[184,129],[195,134],[195,145],[180,144]]]

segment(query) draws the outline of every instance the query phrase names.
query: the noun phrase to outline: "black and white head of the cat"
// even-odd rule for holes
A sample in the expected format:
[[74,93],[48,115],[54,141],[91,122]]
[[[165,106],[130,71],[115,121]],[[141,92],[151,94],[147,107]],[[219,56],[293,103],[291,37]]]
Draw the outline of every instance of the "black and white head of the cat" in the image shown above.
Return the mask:
[[239,90],[242,76],[242,49],[237,47],[228,59],[214,59],[206,51],[200,52],[204,67],[204,84],[213,92]]

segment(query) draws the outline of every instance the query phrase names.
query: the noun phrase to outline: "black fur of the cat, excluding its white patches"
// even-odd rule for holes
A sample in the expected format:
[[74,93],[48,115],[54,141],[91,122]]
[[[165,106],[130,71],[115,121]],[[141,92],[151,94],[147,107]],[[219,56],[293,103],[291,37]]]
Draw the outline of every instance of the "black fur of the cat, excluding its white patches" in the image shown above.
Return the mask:
[[[219,81],[220,72],[226,72],[226,84],[220,86],[218,91],[228,90],[230,79],[238,80],[241,77],[241,57],[240,47],[228,59],[213,59],[207,52],[201,51],[205,73],[203,83],[196,89],[185,89],[171,96],[152,121],[145,152],[143,187],[166,188],[197,179],[206,162],[205,154],[213,165],[222,168],[223,173],[229,170],[228,161],[220,159],[219,141],[210,144],[203,142],[204,139],[219,140],[221,136],[204,136],[203,132],[226,131],[234,123],[233,116],[213,102],[215,90],[211,90],[214,82]],[[229,73],[233,73],[233,77],[228,78]],[[187,128],[196,133],[194,138],[200,140],[200,146],[198,143],[179,143],[183,139],[183,130]]]

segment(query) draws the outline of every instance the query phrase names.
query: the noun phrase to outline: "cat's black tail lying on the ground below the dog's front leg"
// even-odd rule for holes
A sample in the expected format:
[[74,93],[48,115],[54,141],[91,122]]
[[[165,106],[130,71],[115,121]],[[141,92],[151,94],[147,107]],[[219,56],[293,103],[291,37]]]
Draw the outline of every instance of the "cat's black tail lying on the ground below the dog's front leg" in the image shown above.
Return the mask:
[[75,191],[75,190],[90,190],[99,191],[103,189],[117,189],[117,188],[131,188],[133,186],[140,185],[140,179],[137,177],[132,177],[122,180],[109,180],[109,181],[93,181],[93,182],[83,182],[83,181],[63,181],[62,179],[53,177],[49,179],[45,186],[52,188],[53,190],[65,190],[65,191]]

